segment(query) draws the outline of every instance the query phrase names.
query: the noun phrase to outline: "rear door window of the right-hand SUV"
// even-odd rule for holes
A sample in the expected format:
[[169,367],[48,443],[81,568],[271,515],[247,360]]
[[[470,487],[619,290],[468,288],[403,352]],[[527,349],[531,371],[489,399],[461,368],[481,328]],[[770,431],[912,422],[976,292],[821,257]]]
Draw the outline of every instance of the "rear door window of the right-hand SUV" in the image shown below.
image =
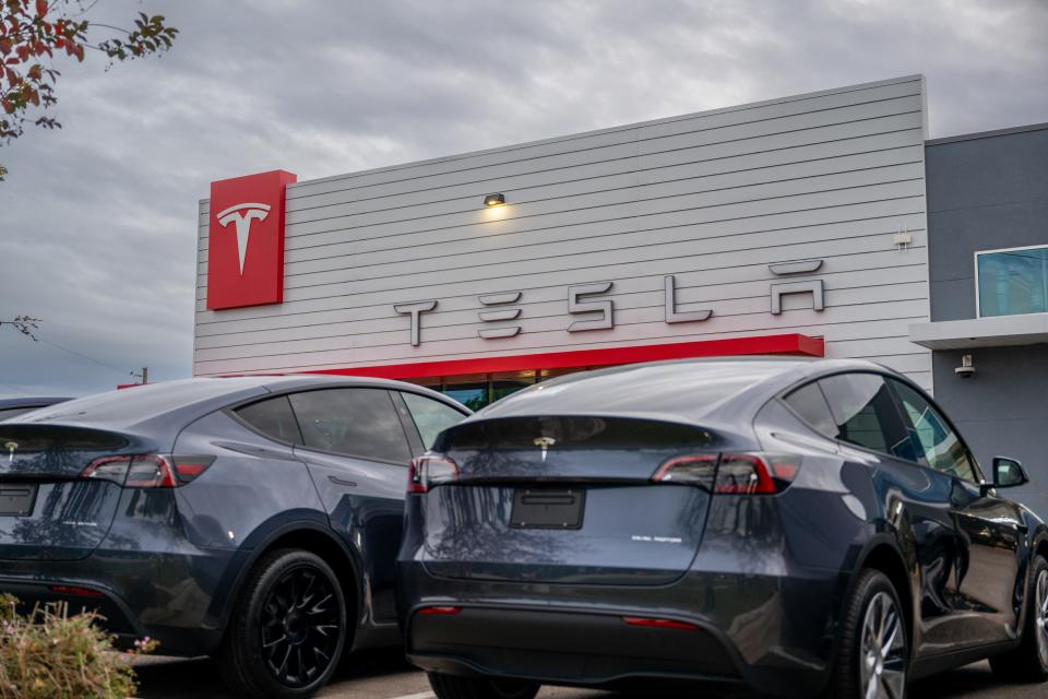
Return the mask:
[[841,374],[819,381],[841,441],[910,459],[912,446],[884,378],[877,374]]

